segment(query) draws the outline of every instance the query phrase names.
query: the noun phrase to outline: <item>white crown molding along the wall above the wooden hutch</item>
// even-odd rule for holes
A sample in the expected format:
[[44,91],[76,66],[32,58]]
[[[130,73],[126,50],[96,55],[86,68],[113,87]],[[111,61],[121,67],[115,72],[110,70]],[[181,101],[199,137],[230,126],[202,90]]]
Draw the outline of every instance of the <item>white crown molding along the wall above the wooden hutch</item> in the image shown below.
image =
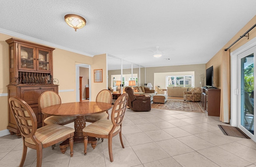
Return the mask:
[[22,35],[20,33],[12,32],[12,31],[2,29],[2,28],[0,28],[0,33],[10,35],[10,36],[13,36],[13,37],[17,37],[17,38],[21,38],[21,39],[25,39],[25,40],[28,40],[28,41],[32,41],[32,42],[39,43],[39,44],[42,44],[42,45],[47,45],[49,47],[63,49],[65,51],[71,51],[71,52],[78,53],[78,54],[85,55],[85,56],[90,56],[90,57],[94,56],[94,55],[91,55],[89,53],[77,51],[75,49],[71,49],[71,48],[64,47],[64,46],[61,46],[61,45],[57,45],[57,44],[54,44],[54,43],[46,42],[46,41],[43,41],[43,40],[40,40],[40,39],[36,39],[36,38],[33,38],[33,37]]

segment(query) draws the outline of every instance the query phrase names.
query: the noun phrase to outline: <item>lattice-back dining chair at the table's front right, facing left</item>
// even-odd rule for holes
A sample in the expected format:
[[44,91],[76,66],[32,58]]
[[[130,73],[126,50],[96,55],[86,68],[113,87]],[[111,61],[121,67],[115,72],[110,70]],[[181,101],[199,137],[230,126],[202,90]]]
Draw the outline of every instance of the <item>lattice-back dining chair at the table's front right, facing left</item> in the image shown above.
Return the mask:
[[108,153],[110,161],[113,162],[112,154],[112,138],[119,134],[121,145],[124,148],[122,141],[122,121],[128,103],[128,94],[124,93],[115,101],[111,112],[111,120],[98,120],[83,129],[84,134],[84,155],[87,153],[88,136],[94,138],[108,139]]

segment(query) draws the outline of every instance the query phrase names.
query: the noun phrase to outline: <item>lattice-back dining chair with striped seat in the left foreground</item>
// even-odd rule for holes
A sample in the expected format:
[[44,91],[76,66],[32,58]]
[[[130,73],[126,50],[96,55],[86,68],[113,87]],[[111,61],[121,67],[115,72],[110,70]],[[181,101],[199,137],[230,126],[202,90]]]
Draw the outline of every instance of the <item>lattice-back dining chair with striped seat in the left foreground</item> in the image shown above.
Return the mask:
[[[73,157],[74,129],[67,126],[50,124],[37,129],[36,115],[32,108],[21,98],[9,98],[10,108],[23,139],[23,152],[20,167],[24,165],[28,147],[36,149],[36,166],[42,166],[42,149],[69,139],[70,157]],[[65,153],[65,152],[62,152]]]

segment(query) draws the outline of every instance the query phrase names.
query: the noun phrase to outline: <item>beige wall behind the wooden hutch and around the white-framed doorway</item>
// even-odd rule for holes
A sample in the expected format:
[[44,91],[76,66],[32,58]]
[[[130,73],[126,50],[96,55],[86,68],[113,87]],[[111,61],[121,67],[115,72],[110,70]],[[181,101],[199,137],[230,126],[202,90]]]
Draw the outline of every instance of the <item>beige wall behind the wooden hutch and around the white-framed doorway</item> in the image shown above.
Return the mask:
[[[7,85],[9,84],[9,68],[8,68],[8,43],[6,39],[12,36],[0,33],[0,131],[6,130],[8,126],[8,96]],[[51,47],[51,46],[50,46]],[[73,53],[63,49],[56,48],[53,51],[53,77],[59,80],[59,94],[63,103],[76,101],[76,64],[88,64],[94,69],[103,69],[103,83],[93,83],[91,95],[95,100],[98,92],[106,88],[106,55],[97,55],[89,57],[78,53]],[[61,92],[62,90],[74,90]]]

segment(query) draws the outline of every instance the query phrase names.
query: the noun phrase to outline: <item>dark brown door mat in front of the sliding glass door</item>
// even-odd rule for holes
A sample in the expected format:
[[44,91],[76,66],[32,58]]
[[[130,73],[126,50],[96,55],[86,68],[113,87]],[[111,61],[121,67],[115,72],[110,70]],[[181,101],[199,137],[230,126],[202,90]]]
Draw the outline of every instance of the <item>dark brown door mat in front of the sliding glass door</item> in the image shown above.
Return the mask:
[[250,139],[242,130],[233,126],[218,125],[220,130],[227,136]]

